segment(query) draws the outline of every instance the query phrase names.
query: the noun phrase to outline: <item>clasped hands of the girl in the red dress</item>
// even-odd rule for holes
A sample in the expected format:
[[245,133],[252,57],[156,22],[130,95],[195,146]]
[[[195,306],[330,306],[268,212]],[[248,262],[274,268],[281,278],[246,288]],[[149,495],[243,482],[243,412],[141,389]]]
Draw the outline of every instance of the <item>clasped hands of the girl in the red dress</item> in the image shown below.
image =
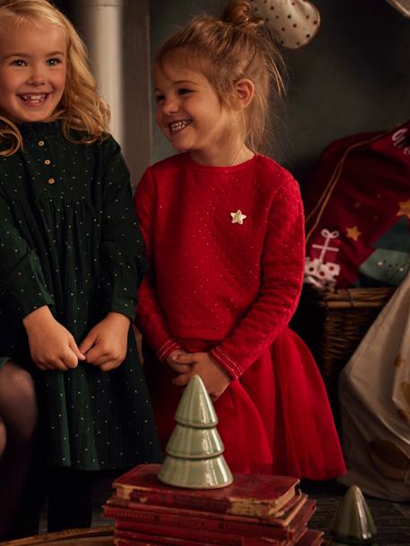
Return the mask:
[[231,376],[214,360],[208,352],[192,352],[178,356],[178,361],[192,365],[192,371],[175,377],[172,380],[174,385],[186,386],[193,375],[201,377],[205,389],[213,402],[218,400],[221,394],[231,383]]

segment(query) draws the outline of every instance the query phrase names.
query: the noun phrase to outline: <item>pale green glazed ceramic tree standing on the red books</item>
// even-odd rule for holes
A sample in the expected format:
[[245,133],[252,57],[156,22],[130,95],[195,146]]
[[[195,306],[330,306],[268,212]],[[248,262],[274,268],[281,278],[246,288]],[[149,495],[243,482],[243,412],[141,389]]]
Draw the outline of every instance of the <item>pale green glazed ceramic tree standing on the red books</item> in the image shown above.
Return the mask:
[[214,405],[199,376],[193,376],[175,413],[177,425],[165,448],[158,478],[189,489],[218,489],[233,481],[223,458]]

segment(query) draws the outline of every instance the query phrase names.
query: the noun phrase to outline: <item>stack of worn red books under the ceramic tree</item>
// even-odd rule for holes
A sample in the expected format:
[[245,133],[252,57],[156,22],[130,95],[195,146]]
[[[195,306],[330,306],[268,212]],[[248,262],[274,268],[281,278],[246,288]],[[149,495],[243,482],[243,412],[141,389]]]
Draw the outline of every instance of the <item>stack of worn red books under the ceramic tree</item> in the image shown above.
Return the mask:
[[159,464],[140,464],[114,481],[103,515],[117,546],[319,546],[308,529],[316,501],[289,476],[234,474],[216,490],[171,487]]

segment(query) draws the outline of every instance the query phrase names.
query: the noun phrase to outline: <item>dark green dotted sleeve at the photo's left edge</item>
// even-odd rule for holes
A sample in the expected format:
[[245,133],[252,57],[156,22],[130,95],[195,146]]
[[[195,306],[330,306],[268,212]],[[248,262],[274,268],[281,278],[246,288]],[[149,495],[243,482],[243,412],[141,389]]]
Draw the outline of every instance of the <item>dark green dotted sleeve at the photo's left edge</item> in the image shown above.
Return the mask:
[[54,300],[36,252],[22,237],[9,204],[0,195],[1,312],[16,321]]

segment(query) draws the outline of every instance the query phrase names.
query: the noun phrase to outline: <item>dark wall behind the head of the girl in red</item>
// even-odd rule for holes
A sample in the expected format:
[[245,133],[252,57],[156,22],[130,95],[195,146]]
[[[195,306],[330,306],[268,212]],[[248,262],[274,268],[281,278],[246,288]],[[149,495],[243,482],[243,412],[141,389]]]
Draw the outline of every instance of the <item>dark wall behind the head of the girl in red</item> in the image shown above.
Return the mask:
[[[283,49],[290,83],[281,160],[303,181],[324,146],[346,134],[395,126],[410,115],[410,20],[385,0],[313,0],[315,39]],[[153,52],[194,13],[221,13],[222,0],[150,2]],[[172,152],[154,129],[153,160]]]

